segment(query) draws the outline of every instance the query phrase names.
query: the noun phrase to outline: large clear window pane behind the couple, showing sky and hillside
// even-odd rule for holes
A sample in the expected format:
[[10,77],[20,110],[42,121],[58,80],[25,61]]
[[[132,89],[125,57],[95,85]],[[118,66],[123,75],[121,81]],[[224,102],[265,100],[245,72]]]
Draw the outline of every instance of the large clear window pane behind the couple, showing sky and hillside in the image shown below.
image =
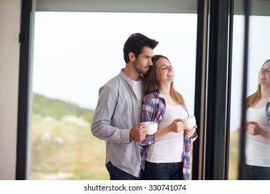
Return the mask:
[[105,141],[90,124],[99,87],[125,67],[132,33],[160,42],[154,54],[174,64],[193,115],[196,23],[196,14],[35,12],[30,179],[108,179]]

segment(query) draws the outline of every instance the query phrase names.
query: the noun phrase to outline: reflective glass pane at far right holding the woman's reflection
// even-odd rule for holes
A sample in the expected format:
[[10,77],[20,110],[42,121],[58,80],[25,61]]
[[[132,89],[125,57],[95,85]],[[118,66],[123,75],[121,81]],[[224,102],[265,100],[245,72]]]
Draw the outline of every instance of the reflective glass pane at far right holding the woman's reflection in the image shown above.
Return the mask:
[[245,152],[247,179],[270,179],[270,129],[266,113],[266,105],[270,100],[270,61],[265,63],[270,60],[270,16],[269,11],[268,15],[261,14],[249,17],[246,94],[249,98]]

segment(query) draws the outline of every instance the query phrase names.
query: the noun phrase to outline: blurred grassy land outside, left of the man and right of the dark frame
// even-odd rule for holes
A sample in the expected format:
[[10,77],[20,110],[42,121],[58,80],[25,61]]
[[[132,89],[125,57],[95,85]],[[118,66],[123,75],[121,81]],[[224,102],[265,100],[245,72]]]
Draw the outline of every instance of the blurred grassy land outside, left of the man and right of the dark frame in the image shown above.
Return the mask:
[[[33,94],[30,179],[109,179],[105,141],[92,136],[94,112]],[[237,179],[238,132],[230,134],[229,179]]]

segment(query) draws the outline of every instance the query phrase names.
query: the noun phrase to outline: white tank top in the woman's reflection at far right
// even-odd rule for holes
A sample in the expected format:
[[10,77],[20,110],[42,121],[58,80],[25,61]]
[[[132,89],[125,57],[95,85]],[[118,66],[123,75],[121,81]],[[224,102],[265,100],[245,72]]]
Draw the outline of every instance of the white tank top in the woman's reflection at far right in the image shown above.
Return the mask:
[[[268,123],[265,108],[265,106],[260,109],[248,108],[246,121],[255,121],[260,127],[267,130]],[[251,136],[246,133],[246,164],[270,167],[270,142],[260,135]]]

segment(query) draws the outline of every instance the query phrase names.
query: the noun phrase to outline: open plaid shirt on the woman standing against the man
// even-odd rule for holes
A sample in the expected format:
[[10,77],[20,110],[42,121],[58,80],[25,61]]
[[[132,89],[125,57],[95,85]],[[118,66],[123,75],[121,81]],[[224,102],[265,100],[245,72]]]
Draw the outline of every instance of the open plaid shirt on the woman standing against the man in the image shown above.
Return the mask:
[[[163,119],[166,110],[166,103],[164,98],[162,98],[160,91],[154,91],[151,94],[147,94],[142,102],[142,122],[155,121],[160,122]],[[187,109],[186,109],[187,111]],[[187,113],[188,114],[188,113]],[[184,136],[184,150],[183,150],[183,179],[190,180],[190,141],[195,141],[197,138],[196,132],[189,138]],[[155,143],[155,134],[146,135],[146,139],[140,143],[142,145],[142,163],[141,163],[141,175],[145,168],[146,155],[149,150],[149,146]]]

